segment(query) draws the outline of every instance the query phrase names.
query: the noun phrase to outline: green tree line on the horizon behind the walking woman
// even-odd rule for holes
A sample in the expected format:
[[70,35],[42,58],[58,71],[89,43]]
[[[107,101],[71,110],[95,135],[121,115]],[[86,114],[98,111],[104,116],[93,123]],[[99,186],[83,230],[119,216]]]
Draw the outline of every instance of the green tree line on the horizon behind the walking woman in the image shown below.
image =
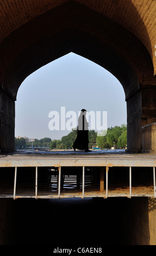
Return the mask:
[[[35,139],[33,147],[49,147],[50,149],[72,149],[74,140],[77,137],[77,130],[72,130],[68,135],[61,139],[54,139],[45,137],[42,139]],[[94,130],[89,131],[89,148],[95,145],[101,149],[113,147],[115,142],[116,148],[126,148],[127,145],[127,126],[110,127],[107,130],[107,135],[97,136]],[[25,138],[15,138],[15,149],[26,149],[32,147],[31,142],[26,142]]]

